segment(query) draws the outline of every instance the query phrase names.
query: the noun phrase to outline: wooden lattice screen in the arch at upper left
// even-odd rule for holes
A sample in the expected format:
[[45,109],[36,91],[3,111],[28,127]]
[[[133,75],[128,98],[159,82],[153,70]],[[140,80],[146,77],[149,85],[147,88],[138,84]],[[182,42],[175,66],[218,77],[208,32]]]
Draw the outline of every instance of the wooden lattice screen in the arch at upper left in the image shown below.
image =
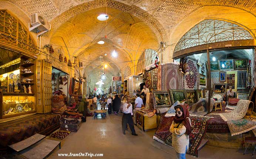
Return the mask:
[[0,10],[0,43],[30,53],[38,53],[38,48],[27,28],[7,10]]

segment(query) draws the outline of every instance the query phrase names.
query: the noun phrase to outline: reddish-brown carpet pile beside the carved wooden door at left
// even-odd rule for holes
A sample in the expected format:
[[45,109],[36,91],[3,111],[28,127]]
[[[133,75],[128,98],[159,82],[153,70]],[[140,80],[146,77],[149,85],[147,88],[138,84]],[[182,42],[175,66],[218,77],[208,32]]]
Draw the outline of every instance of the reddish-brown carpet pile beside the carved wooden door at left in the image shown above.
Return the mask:
[[67,106],[65,106],[63,95],[54,95],[51,111],[55,114],[63,114],[65,110],[67,110]]

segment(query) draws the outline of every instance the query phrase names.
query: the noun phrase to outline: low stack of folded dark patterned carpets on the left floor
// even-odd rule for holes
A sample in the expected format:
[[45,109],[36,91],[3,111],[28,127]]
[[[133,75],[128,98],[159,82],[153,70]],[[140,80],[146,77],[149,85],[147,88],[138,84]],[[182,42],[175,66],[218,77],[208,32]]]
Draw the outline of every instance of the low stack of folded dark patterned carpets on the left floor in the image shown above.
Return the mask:
[[66,110],[60,118],[60,129],[77,132],[81,126],[81,118],[81,113]]

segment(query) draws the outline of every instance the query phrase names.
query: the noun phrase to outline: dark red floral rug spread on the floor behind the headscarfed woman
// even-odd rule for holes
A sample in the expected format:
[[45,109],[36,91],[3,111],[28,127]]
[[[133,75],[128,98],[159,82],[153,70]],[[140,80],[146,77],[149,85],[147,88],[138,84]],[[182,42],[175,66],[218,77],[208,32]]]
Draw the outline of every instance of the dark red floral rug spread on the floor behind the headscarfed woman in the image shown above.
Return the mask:
[[[161,122],[156,130],[153,139],[172,146],[172,133],[169,131],[171,123],[174,117],[164,117],[165,114],[161,114]],[[197,117],[189,116],[191,119],[191,134],[189,135],[189,149],[188,153],[193,156],[198,156],[198,147],[207,130],[209,117]]]

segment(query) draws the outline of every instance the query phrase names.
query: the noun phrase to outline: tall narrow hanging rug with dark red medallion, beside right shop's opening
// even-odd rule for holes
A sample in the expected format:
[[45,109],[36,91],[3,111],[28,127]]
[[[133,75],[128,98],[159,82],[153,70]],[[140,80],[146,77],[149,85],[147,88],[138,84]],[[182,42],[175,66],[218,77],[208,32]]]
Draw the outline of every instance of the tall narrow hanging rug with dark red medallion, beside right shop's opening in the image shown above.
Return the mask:
[[[198,67],[196,59],[192,57],[185,57],[186,62],[184,63],[183,67],[185,69],[184,74],[184,89],[197,89],[198,88]],[[178,80],[181,83],[181,80]],[[175,89],[175,88],[171,88]]]

